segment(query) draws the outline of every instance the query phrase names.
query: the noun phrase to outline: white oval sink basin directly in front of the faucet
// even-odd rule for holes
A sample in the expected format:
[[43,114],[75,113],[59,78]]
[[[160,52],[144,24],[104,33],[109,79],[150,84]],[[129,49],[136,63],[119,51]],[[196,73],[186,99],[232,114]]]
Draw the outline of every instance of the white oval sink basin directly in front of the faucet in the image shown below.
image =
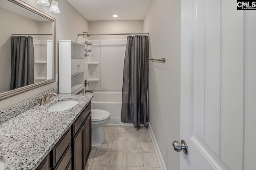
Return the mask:
[[53,104],[47,110],[48,111],[63,111],[63,110],[70,109],[70,108],[76,106],[78,103],[79,102],[75,101],[75,100],[66,100],[66,101],[62,101],[62,102]]

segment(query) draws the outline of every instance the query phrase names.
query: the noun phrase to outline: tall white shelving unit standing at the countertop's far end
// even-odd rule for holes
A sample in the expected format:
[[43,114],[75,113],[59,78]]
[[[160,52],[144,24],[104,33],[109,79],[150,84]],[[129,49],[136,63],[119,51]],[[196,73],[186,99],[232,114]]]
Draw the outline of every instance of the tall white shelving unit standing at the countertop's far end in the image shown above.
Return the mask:
[[84,94],[84,45],[59,41],[59,93]]

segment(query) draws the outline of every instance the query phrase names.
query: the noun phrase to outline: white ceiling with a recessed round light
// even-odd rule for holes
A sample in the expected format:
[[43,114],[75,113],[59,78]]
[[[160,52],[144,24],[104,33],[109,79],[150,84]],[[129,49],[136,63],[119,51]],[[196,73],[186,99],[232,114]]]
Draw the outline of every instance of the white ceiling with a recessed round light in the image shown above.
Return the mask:
[[[107,21],[144,20],[152,0],[68,0],[68,2],[88,21]],[[119,17],[112,17],[114,14],[118,14]]]

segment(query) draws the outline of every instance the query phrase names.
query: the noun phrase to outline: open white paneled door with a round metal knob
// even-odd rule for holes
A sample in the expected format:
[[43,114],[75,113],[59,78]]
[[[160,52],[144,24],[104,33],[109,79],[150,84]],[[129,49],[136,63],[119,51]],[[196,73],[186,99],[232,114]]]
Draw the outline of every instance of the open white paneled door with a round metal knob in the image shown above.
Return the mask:
[[256,10],[181,0],[180,120],[180,170],[256,169]]

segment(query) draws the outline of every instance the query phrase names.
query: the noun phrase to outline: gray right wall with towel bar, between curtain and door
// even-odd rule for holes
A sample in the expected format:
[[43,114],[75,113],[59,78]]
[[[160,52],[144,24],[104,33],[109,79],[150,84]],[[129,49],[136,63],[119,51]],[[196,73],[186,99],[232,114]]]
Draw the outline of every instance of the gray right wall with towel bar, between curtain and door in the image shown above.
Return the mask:
[[166,58],[149,65],[149,121],[168,170],[180,169],[180,1],[154,0],[144,20],[150,33],[150,57]]

